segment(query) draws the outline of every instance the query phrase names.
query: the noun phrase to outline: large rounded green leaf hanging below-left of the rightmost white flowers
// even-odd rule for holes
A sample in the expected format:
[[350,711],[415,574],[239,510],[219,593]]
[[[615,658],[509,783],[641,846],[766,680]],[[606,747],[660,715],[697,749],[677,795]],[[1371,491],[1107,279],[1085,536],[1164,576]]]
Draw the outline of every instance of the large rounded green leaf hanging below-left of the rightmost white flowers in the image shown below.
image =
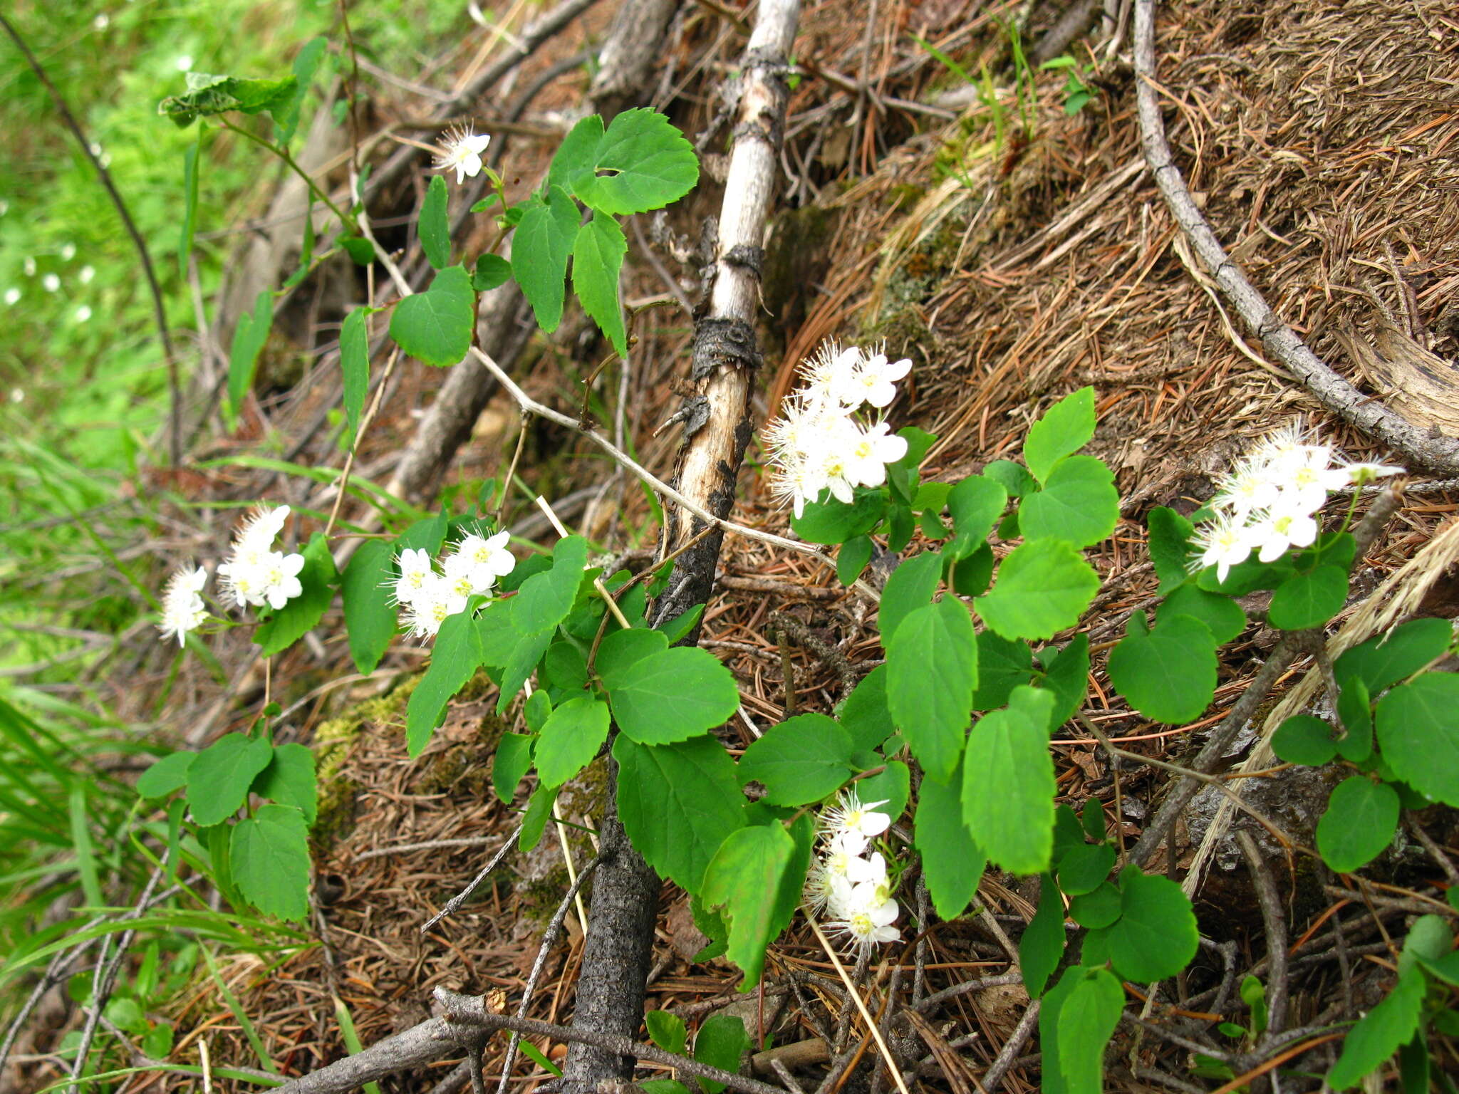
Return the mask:
[[1145,718],[1189,722],[1215,694],[1215,639],[1191,616],[1134,630],[1110,652],[1109,678]]

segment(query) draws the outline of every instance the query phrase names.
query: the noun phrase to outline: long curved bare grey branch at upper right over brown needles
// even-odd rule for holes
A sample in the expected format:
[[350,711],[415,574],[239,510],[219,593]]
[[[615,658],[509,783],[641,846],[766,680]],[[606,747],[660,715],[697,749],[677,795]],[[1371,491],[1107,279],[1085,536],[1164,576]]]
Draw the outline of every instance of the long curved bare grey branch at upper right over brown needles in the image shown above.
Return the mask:
[[1414,468],[1441,474],[1459,473],[1459,441],[1433,436],[1412,426],[1377,403],[1332,369],[1297,337],[1266,299],[1246,279],[1242,267],[1227,255],[1205,216],[1191,198],[1180,168],[1166,141],[1156,83],[1156,0],[1135,0],[1135,104],[1139,114],[1139,144],[1170,214],[1180,226],[1191,248],[1211,271],[1211,277],[1242,322],[1266,352],[1285,365],[1301,385],[1328,410],[1350,426],[1377,438],[1404,455]]

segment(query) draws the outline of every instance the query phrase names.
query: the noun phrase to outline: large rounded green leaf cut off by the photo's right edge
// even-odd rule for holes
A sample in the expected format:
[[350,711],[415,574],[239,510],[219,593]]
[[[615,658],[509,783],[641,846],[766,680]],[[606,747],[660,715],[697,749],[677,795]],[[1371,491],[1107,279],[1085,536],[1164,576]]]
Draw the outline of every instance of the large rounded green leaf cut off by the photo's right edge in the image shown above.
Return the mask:
[[1425,672],[1377,705],[1377,740],[1399,779],[1420,794],[1459,805],[1459,675]]

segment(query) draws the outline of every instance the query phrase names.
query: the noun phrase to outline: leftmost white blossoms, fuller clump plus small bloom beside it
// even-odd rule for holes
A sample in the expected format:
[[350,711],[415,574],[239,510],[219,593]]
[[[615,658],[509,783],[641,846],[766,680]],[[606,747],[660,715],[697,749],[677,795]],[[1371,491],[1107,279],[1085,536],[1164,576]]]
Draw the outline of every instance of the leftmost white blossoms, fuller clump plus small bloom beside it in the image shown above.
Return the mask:
[[[217,576],[238,607],[261,608],[267,604],[277,611],[303,592],[299,582],[303,556],[273,548],[287,519],[287,505],[255,509],[235,535],[228,562],[217,567]],[[188,633],[207,621],[207,605],[203,602],[206,583],[207,570],[201,566],[194,570],[184,567],[172,575],[162,594],[162,621],[158,624],[163,637],[177,637],[178,645],[185,646]]]

